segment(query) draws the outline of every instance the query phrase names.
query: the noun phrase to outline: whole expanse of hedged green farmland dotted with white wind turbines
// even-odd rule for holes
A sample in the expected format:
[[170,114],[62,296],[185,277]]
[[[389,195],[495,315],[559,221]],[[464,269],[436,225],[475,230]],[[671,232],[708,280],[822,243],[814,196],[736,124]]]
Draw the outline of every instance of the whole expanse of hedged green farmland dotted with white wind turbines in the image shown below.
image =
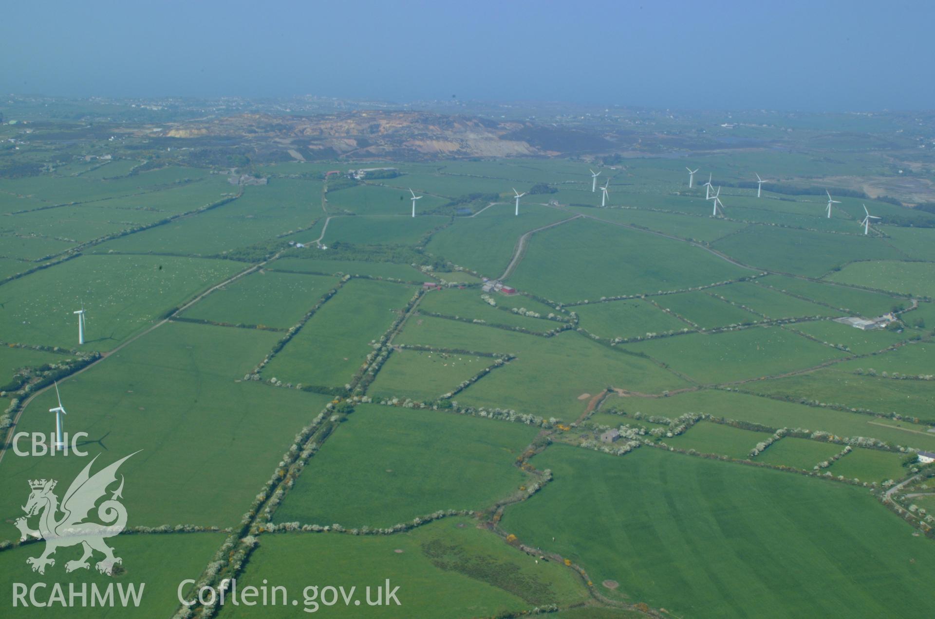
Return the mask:
[[[888,125],[507,109],[0,125],[45,166],[0,176],[0,513],[67,486],[84,432],[98,462],[144,450],[111,542],[117,581],[163,587],[145,616],[184,612],[190,574],[318,561],[411,562],[402,586],[446,596],[408,594],[413,617],[935,612],[905,496],[935,453],[935,215],[854,137]],[[56,457],[16,454],[34,434]],[[39,578],[19,539],[0,574]]]

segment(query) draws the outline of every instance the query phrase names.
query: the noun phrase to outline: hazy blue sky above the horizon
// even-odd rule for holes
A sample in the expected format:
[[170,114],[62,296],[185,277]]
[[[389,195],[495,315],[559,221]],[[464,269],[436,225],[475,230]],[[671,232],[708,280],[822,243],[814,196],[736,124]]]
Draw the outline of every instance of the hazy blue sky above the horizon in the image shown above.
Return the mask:
[[27,2],[0,91],[932,108],[935,2]]

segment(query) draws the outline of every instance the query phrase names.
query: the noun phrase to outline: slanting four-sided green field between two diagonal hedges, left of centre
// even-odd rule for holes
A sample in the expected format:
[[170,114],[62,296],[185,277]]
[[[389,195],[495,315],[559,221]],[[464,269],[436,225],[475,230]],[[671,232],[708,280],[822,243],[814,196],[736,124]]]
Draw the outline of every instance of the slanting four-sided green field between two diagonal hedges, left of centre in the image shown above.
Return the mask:
[[352,279],[266,365],[263,376],[343,386],[372,350],[370,342],[389,329],[414,291],[403,284]]

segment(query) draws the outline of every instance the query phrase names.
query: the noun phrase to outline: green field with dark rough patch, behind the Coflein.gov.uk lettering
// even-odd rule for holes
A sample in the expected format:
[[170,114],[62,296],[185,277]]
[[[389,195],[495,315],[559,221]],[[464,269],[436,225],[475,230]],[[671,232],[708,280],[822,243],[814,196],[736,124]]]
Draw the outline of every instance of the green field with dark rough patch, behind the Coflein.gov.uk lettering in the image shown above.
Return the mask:
[[[309,562],[308,556],[318,558]],[[238,584],[260,586],[266,579],[286,586],[290,597],[298,599],[298,608],[303,608],[303,589],[312,583],[335,582],[335,574],[341,575],[345,589],[357,585],[360,600],[366,600],[367,586],[376,589],[388,577],[391,588],[399,586],[400,602],[400,606],[365,606],[362,601],[358,608],[341,601],[319,607],[335,617],[359,617],[364,612],[368,617],[399,617],[400,611],[408,617],[492,617],[587,598],[574,572],[555,562],[535,563],[469,518],[446,518],[394,536],[265,536]],[[376,597],[375,592],[372,595]],[[248,610],[227,605],[219,616],[278,617],[284,616],[282,612],[281,607]]]

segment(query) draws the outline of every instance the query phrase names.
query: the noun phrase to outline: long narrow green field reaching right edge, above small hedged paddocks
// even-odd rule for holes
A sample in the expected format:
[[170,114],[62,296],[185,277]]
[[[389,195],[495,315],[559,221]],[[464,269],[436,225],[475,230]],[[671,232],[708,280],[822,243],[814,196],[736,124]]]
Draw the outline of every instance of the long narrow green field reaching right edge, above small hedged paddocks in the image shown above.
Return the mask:
[[[755,387],[759,388],[760,385],[762,383],[756,383]],[[758,423],[768,428],[824,430],[838,436],[867,436],[893,445],[935,450],[935,433],[927,432],[927,426],[720,389],[678,393],[661,399],[611,399],[609,402],[624,408],[630,415],[639,412],[674,418],[683,413],[708,413]],[[909,432],[907,429],[914,431]]]

